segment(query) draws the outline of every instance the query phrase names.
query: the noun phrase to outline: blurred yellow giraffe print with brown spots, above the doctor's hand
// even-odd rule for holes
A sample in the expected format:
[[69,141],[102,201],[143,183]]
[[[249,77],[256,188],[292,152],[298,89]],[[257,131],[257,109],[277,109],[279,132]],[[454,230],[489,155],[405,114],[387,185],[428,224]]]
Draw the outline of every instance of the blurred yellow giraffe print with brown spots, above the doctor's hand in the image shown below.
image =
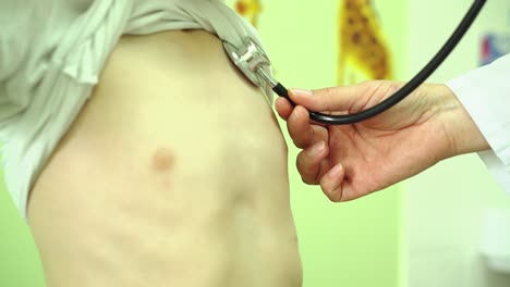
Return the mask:
[[391,78],[389,50],[371,0],[340,0],[338,84]]

